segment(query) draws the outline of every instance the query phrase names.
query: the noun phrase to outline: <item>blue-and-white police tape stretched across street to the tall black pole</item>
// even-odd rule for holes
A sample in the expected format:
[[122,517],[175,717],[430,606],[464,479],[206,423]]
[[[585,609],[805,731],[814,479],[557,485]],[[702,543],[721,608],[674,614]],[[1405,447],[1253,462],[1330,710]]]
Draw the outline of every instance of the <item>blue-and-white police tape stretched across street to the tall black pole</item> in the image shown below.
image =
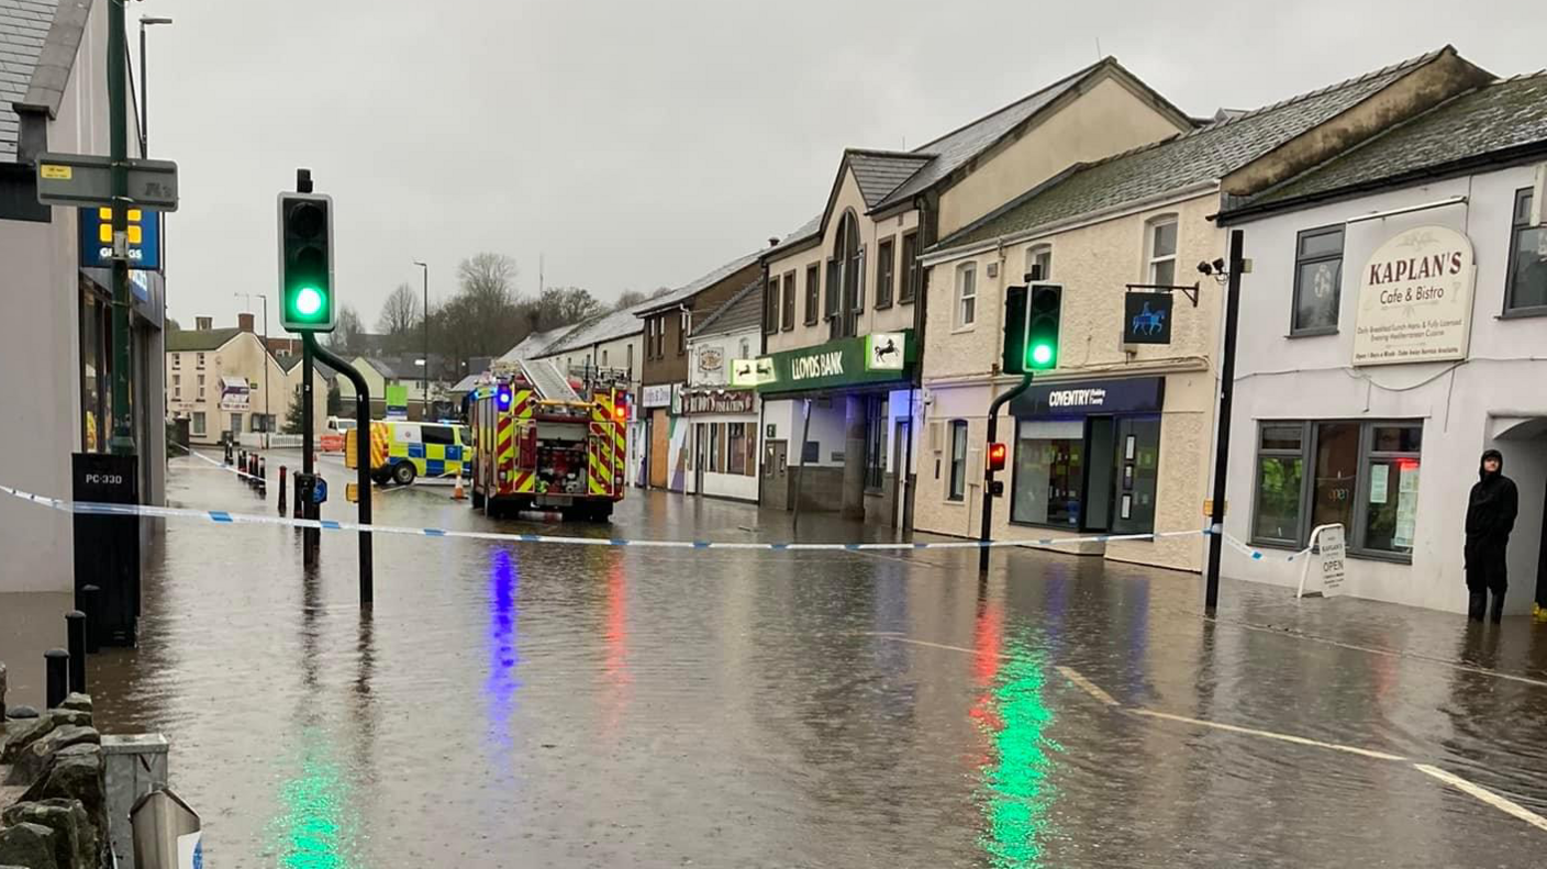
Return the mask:
[[911,550],[911,549],[1001,549],[1001,547],[1046,547],[1072,546],[1081,543],[1115,543],[1125,540],[1160,540],[1170,537],[1207,535],[1208,529],[1197,530],[1165,530],[1151,533],[1108,533],[1091,537],[1064,537],[1044,540],[951,540],[933,543],[738,543],[719,540],[625,540],[610,537],[563,537],[551,533],[515,533],[493,530],[459,530],[439,527],[410,527],[385,524],[360,524],[336,520],[297,520],[291,516],[232,513],[227,510],[195,510],[189,507],[156,507],[149,504],[104,504],[101,501],[65,501],[48,495],[32,495],[11,486],[0,486],[0,493],[11,495],[29,504],[50,507],[65,513],[80,513],[91,516],[152,516],[166,520],[203,520],[213,524],[254,524],[282,526],[319,530],[394,533],[410,537],[447,537],[463,540],[493,540],[507,543],[558,543],[568,546],[628,546],[648,549],[750,549],[774,552],[871,552],[871,550]]

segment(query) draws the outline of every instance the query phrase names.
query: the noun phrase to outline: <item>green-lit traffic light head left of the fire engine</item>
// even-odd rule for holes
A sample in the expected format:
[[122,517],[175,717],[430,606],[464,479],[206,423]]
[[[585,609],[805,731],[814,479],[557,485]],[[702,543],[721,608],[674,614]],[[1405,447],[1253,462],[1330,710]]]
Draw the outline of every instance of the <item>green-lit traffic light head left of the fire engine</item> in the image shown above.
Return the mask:
[[292,332],[331,332],[333,198],[280,193],[280,323]]

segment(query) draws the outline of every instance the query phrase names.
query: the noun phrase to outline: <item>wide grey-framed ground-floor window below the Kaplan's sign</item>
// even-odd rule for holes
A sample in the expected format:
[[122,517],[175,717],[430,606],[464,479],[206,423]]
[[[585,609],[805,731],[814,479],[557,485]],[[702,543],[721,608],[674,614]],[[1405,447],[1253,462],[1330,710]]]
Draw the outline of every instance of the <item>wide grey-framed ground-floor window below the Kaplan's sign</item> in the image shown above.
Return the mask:
[[1264,422],[1253,540],[1303,547],[1337,523],[1355,552],[1411,558],[1422,441],[1420,422]]

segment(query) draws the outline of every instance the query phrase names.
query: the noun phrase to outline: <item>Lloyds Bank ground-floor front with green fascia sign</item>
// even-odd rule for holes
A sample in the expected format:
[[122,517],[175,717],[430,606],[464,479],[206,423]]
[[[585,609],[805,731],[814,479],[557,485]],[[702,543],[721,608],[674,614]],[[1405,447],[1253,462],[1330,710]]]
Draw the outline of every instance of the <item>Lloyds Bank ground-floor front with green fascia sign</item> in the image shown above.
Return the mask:
[[[763,504],[903,524],[913,419],[913,329],[837,339],[738,365],[763,397]],[[746,371],[743,374],[743,371]]]

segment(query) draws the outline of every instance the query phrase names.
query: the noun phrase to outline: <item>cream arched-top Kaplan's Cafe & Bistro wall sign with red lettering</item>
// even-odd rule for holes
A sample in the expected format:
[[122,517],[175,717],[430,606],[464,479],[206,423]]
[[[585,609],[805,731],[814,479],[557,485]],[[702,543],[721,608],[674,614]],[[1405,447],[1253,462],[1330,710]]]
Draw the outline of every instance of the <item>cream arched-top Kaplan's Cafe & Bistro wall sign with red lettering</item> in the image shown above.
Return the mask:
[[1471,240],[1443,226],[1400,232],[1360,272],[1354,365],[1467,359]]

